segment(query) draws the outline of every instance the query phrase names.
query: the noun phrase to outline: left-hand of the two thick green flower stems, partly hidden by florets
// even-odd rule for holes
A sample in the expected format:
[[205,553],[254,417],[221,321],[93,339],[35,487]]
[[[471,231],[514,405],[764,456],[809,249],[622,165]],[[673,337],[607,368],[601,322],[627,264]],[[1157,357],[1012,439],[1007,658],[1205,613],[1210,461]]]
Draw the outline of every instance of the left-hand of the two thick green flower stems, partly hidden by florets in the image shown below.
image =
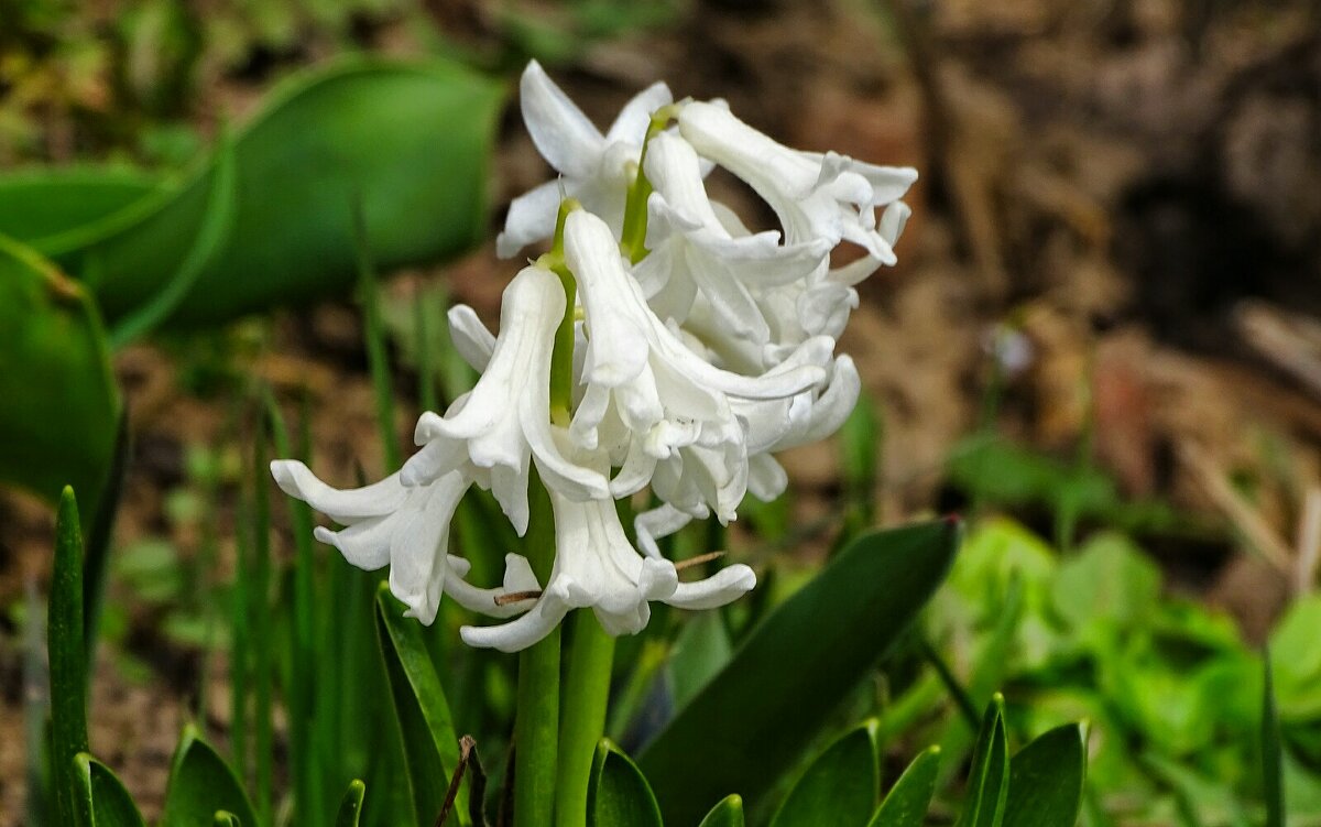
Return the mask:
[[[550,494],[532,473],[528,485],[527,560],[538,580],[550,581],[555,523]],[[518,717],[514,720],[514,826],[542,827],[555,812],[559,758],[560,630],[518,657]]]

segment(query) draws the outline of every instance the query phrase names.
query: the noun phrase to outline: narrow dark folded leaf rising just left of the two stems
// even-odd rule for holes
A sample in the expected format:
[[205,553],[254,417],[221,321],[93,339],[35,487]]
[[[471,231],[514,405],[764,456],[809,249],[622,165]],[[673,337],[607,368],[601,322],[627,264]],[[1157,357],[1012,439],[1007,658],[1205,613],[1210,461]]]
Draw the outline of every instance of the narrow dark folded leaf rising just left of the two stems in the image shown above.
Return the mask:
[[[419,824],[429,826],[445,803],[449,778],[458,766],[458,737],[421,625],[404,617],[403,609],[391,596],[390,584],[382,581],[376,591],[376,635],[403,735],[413,812]],[[469,823],[466,785],[460,787],[453,812],[461,824]]]

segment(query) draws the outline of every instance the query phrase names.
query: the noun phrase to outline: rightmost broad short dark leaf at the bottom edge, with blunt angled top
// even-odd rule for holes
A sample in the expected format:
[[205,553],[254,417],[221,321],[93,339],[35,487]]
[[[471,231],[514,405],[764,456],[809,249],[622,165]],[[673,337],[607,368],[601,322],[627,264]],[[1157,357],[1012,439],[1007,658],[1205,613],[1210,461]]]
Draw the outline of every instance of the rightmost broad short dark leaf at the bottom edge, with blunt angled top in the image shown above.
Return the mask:
[[1036,738],[1009,761],[1004,827],[1073,827],[1087,778],[1087,729],[1066,724]]

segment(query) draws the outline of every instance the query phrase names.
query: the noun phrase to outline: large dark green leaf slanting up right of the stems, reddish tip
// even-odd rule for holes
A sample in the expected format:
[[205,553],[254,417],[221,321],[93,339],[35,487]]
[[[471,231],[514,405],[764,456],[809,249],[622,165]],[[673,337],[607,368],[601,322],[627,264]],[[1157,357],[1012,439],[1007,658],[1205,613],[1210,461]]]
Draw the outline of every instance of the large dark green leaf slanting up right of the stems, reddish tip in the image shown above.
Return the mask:
[[729,793],[756,807],[926,604],[959,535],[956,521],[864,535],[775,608],[642,753],[666,818],[695,823]]

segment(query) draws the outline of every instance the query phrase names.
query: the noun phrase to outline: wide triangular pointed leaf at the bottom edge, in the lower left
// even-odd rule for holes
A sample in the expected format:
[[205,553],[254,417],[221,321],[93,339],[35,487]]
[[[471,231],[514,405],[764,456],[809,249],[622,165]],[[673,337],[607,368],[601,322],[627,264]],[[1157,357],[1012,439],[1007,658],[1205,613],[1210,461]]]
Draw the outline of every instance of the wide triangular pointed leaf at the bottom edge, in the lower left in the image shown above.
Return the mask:
[[197,827],[211,822],[221,810],[232,812],[242,824],[258,824],[252,805],[234,770],[202,740],[197,727],[189,724],[184,727],[174,750],[160,824]]

